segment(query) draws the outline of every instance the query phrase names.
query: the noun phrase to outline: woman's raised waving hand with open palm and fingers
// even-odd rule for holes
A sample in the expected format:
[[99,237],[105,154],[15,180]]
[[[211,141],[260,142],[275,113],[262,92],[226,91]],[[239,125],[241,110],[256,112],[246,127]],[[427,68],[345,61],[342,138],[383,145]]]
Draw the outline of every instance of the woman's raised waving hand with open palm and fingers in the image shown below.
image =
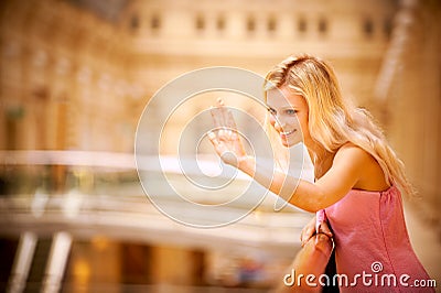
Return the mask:
[[232,111],[225,107],[222,99],[218,99],[211,113],[215,128],[207,133],[209,141],[226,164],[238,167],[239,162],[247,158],[247,153]]

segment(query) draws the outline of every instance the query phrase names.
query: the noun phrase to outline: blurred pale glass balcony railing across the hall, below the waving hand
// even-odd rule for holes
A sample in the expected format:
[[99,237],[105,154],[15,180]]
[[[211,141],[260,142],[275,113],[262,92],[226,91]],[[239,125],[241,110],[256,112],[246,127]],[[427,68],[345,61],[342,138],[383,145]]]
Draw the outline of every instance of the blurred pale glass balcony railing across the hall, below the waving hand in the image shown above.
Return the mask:
[[[97,217],[94,213],[99,211],[131,215],[132,218],[133,215],[154,217],[157,223],[178,219],[184,226],[186,220],[192,226],[192,223],[216,223],[224,217],[237,219],[239,226],[286,229],[289,234],[292,229],[300,230],[311,217],[289,206],[275,213],[276,197],[257,185],[250,185],[250,180],[243,175],[225,188],[196,188],[189,183],[189,174],[182,174],[174,158],[165,158],[168,164],[163,164],[161,170],[149,170],[149,164],[144,164],[147,167],[140,172],[142,184],[132,154],[2,151],[0,159],[3,162],[0,170],[3,217],[29,214],[28,220],[39,223],[44,216],[57,215],[58,219],[65,220],[88,215],[92,220]],[[218,167],[218,162],[212,164]],[[197,176],[202,175],[195,173],[192,180],[198,181]],[[211,184],[213,180],[225,183],[224,178],[211,178]],[[154,191],[154,194],[146,194],[146,191]],[[249,195],[240,199],[244,191]],[[193,206],[213,208],[193,213],[192,206],[189,209],[189,202],[194,203]],[[232,220],[225,224],[232,224]]]

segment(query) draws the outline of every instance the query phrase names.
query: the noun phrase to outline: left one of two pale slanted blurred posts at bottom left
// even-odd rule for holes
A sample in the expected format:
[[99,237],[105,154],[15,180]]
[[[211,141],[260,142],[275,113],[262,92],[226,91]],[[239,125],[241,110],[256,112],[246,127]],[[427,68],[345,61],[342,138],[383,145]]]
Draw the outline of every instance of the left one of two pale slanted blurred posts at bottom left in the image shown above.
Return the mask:
[[34,256],[36,239],[33,232],[21,235],[7,292],[23,292]]

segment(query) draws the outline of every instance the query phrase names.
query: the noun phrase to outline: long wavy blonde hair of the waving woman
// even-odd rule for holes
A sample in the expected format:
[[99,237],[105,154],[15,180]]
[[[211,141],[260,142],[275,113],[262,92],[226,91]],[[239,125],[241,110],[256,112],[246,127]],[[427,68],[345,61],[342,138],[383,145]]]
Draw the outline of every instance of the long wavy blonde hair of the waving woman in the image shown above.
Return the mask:
[[326,62],[310,55],[288,57],[267,74],[263,90],[281,86],[306,100],[310,134],[325,150],[335,152],[352,142],[375,158],[389,184],[409,195],[416,193],[381,129],[367,110],[343,99],[335,73]]

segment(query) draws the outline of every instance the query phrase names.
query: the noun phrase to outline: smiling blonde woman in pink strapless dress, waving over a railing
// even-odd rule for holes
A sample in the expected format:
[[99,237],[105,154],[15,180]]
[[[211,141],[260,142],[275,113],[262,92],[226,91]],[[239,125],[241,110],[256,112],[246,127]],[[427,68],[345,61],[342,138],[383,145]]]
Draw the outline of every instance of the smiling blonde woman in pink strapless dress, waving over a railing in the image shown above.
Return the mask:
[[316,213],[301,240],[319,231],[333,237],[342,292],[432,291],[418,287],[430,278],[405,224],[400,189],[410,195],[413,189],[404,165],[368,112],[344,101],[332,67],[313,56],[291,56],[268,73],[263,89],[273,143],[303,142],[315,182],[257,165],[219,101],[212,113],[225,130],[208,138],[222,160],[290,204]]

